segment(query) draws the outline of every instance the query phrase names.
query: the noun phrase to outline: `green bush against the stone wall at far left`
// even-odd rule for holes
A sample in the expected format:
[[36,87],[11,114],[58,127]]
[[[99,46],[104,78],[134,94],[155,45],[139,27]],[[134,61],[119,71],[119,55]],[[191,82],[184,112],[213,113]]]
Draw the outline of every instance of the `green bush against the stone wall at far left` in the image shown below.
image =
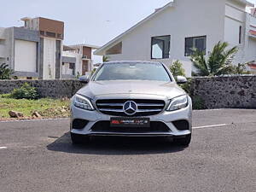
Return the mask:
[[32,87],[30,84],[23,84],[20,88],[15,89],[11,92],[10,97],[14,99],[33,99],[39,98],[38,90]]

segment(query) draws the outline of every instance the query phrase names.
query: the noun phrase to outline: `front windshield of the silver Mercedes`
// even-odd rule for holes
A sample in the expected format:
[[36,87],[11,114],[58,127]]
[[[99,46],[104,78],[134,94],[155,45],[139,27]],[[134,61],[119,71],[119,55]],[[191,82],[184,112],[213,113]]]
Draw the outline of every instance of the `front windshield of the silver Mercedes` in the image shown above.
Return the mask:
[[166,68],[158,63],[105,63],[94,80],[172,81]]

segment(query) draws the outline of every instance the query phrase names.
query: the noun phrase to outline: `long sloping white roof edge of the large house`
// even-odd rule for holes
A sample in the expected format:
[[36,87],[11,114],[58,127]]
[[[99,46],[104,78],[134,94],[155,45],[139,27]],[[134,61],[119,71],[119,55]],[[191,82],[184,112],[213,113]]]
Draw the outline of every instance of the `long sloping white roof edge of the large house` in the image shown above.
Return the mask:
[[128,34],[129,32],[132,32],[135,28],[137,28],[137,26],[141,26],[143,25],[143,23],[147,22],[148,20],[150,20],[151,18],[153,18],[155,15],[159,15],[160,12],[170,8],[170,7],[174,7],[174,1],[167,3],[164,7],[160,8],[160,9],[155,9],[154,13],[149,15],[148,17],[146,17],[144,20],[141,20],[140,22],[138,22],[135,26],[132,26],[130,29],[128,29],[127,31],[123,32],[122,34],[120,34],[118,37],[113,38],[113,40],[111,40],[110,42],[108,42],[108,44],[103,45],[101,48],[96,49],[96,51],[94,52],[95,55],[104,55],[104,50],[108,49],[108,47],[112,44],[118,44],[119,40],[121,38],[123,38],[126,34]]

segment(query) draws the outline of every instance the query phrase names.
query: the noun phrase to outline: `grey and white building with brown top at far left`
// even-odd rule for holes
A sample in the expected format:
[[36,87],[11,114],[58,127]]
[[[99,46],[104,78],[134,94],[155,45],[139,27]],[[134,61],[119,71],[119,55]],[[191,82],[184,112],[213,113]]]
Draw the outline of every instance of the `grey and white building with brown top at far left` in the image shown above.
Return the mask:
[[61,79],[64,22],[22,18],[24,26],[0,28],[0,64],[19,79]]

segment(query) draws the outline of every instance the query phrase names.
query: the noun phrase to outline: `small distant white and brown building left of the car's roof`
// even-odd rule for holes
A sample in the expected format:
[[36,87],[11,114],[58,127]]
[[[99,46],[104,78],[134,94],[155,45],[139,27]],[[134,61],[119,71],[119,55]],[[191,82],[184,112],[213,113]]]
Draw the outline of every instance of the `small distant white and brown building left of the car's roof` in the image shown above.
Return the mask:
[[63,46],[62,78],[70,79],[78,75],[90,74],[93,64],[102,61],[102,56],[93,55],[93,51],[98,48],[90,44]]

